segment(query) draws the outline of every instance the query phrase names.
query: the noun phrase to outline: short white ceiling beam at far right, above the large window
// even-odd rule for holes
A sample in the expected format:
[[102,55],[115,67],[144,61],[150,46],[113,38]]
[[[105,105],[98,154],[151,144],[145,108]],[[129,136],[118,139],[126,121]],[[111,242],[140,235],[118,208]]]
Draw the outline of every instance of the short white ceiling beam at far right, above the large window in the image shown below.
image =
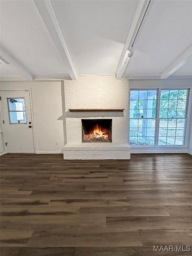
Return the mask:
[[182,67],[187,62],[190,55],[192,55],[192,45],[161,73],[161,79],[168,78],[176,70]]

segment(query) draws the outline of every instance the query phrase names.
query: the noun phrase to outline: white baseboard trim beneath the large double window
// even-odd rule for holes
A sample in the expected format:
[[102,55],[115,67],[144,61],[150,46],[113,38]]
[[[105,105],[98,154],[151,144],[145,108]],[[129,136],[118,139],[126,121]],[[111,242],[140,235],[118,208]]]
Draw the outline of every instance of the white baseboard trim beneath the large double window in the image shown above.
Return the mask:
[[187,147],[131,147],[131,153],[189,153]]

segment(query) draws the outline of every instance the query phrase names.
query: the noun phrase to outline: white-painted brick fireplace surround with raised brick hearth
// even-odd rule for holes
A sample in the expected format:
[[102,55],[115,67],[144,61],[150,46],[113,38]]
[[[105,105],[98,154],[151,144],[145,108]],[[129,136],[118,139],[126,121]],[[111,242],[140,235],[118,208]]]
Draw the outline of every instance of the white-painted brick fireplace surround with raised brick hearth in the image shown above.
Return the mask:
[[[64,159],[130,159],[129,83],[115,76],[64,80],[66,140]],[[124,109],[123,112],[70,112],[69,109]],[[83,143],[81,119],[112,119],[112,142]],[[65,130],[65,129],[64,129]]]

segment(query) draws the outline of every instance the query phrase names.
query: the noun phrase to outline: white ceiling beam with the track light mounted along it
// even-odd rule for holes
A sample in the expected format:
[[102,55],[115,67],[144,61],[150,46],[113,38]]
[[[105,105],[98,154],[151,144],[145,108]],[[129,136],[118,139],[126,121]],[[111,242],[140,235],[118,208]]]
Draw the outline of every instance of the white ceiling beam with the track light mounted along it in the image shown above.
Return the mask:
[[145,16],[146,10],[149,6],[150,0],[140,0],[137,6],[137,10],[135,12],[135,16],[133,18],[133,22],[131,24],[131,28],[129,30],[129,34],[117,67],[116,71],[116,78],[121,79],[125,69],[127,67],[127,64],[130,60],[128,56],[129,50],[131,49],[131,46],[135,40],[135,37],[139,31],[139,28],[141,26],[141,23],[143,21],[143,18]]

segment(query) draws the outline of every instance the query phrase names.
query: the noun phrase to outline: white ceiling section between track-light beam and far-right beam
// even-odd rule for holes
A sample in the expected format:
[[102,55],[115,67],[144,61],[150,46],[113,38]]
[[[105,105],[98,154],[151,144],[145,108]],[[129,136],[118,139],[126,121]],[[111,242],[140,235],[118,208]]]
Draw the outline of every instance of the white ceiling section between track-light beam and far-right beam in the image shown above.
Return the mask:
[[192,1],[154,1],[125,74],[160,74],[190,45]]

